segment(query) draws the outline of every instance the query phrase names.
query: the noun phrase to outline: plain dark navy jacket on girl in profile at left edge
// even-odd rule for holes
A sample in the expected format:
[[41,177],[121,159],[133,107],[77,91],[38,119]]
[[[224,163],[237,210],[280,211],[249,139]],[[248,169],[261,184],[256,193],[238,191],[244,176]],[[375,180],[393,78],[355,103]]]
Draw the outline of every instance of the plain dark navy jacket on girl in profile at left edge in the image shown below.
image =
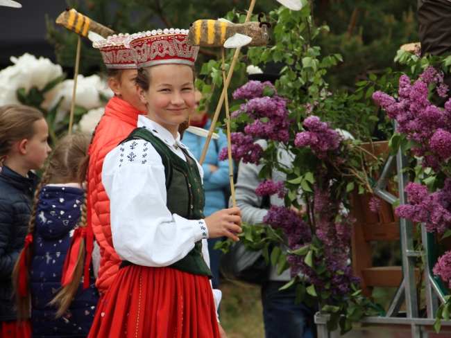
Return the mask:
[[0,321],[15,321],[12,269],[25,246],[31,206],[39,178],[19,175],[7,166],[0,174]]

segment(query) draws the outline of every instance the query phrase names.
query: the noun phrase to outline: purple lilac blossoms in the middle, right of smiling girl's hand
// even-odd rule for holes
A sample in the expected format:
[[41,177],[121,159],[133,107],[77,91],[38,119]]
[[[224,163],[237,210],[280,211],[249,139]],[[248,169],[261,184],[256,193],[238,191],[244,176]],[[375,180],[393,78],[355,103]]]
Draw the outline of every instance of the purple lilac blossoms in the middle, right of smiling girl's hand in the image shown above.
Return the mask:
[[[265,96],[266,94],[271,96]],[[322,90],[319,95],[325,100],[332,94]],[[301,184],[303,189],[307,190],[309,184],[312,184],[311,195],[304,194],[312,204],[307,206],[309,216],[300,217],[292,208],[285,206],[271,206],[263,219],[267,226],[282,231],[287,238],[285,244],[292,252],[298,252],[296,250],[305,246],[316,249],[311,263],[306,263],[306,253],[287,256],[291,277],[295,278],[301,272],[309,283],[315,285],[316,292],[323,294],[330,292],[332,296],[336,296],[350,292],[352,287],[359,284],[360,279],[354,276],[348,266],[352,224],[355,220],[343,206],[343,197],[337,195],[338,178],[343,172],[354,170],[352,175],[355,174],[355,168],[351,168],[350,161],[347,160],[350,151],[345,140],[332,129],[330,123],[325,123],[312,114],[314,107],[318,106],[317,100],[313,105],[307,103],[304,106],[308,116],[302,122],[303,129],[298,130],[296,121],[289,118],[289,101],[279,96],[271,83],[249,81],[232,96],[246,100],[246,103],[239,105],[239,109],[231,115],[237,121],[246,123],[243,132],[231,134],[233,159],[242,159],[244,163],[266,161],[265,151],[255,143],[256,139],[268,141],[270,146],[266,153],[291,147],[295,152],[300,150],[305,154],[313,154],[317,159],[309,164],[314,176],[309,178],[309,183]],[[221,151],[219,158],[227,158],[227,148]],[[277,166],[275,164],[275,168]],[[288,186],[284,182],[275,183],[271,178],[267,178],[259,184],[255,193],[259,196],[278,195],[286,199],[290,190]],[[346,186],[342,186],[341,190],[344,188]],[[293,189],[291,186],[291,190]],[[317,269],[312,264],[322,268]]]

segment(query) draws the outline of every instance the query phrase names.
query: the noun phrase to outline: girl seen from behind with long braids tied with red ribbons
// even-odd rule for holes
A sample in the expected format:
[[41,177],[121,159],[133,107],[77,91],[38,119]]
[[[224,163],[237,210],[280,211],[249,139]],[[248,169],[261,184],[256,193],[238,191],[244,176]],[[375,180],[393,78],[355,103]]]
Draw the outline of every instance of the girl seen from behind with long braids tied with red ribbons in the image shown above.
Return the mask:
[[85,262],[85,184],[77,182],[90,139],[66,136],[51,155],[35,195],[25,248],[13,282],[18,319],[30,317],[32,337],[87,337],[99,292]]

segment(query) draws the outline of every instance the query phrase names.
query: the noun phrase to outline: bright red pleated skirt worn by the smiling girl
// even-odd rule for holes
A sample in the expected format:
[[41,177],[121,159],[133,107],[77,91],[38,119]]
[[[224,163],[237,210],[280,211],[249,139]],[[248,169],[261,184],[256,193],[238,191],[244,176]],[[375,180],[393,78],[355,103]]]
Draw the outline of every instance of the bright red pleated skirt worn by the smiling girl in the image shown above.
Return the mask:
[[120,269],[99,303],[89,338],[219,338],[207,276],[171,267]]

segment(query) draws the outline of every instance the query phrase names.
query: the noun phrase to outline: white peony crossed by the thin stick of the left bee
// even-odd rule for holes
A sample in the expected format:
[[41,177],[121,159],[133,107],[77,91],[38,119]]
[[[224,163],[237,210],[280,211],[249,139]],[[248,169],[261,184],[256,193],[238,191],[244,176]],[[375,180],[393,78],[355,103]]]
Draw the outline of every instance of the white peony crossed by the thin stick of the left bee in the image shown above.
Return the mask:
[[[70,112],[73,91],[74,80],[65,80],[61,82],[58,93],[53,96],[50,109],[58,104],[60,98],[64,97],[58,108],[58,115]],[[114,95],[108,85],[101,80],[99,75],[92,75],[86,78],[83,75],[78,75],[75,96],[75,105],[77,107],[82,107],[87,110],[103,107],[105,104],[100,100],[100,94],[103,94],[107,98],[112,98]]]

